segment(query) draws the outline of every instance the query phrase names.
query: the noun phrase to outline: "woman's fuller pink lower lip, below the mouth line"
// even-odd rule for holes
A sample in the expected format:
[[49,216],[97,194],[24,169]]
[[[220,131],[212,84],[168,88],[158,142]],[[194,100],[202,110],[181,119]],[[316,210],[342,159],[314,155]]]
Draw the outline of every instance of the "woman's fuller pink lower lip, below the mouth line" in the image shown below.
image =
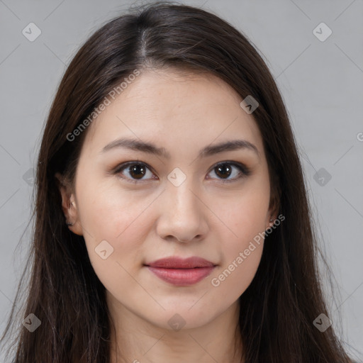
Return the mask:
[[160,279],[173,285],[193,285],[206,278],[215,266],[196,267],[194,269],[164,269],[160,267],[147,266]]

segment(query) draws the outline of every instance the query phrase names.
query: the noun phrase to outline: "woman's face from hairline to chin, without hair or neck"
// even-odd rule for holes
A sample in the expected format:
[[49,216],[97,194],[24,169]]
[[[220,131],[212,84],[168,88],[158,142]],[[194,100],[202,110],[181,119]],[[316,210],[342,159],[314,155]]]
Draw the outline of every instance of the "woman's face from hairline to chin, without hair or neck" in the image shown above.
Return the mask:
[[[196,328],[249,286],[262,255],[256,237],[276,216],[262,137],[241,101],[213,76],[147,71],[89,125],[63,209],[110,306],[167,329],[179,314]],[[230,141],[240,147],[216,147]],[[165,257],[213,266],[147,266]]]

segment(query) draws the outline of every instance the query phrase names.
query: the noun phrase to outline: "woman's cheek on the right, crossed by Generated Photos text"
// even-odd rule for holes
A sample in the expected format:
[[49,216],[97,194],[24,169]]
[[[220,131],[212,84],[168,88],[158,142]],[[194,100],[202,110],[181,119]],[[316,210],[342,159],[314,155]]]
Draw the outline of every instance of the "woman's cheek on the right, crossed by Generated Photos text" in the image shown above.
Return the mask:
[[262,256],[268,207],[269,184],[264,180],[251,184],[231,200],[225,199],[219,214],[225,225],[223,230],[218,228],[223,261],[211,277],[220,298],[237,299],[255,277]]

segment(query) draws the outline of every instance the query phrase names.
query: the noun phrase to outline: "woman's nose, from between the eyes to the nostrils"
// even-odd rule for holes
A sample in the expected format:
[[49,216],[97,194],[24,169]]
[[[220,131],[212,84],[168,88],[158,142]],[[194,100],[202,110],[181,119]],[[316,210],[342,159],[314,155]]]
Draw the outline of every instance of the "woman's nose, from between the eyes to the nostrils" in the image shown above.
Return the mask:
[[170,183],[161,196],[157,234],[164,240],[201,240],[208,231],[208,208],[188,180],[189,178],[179,186]]

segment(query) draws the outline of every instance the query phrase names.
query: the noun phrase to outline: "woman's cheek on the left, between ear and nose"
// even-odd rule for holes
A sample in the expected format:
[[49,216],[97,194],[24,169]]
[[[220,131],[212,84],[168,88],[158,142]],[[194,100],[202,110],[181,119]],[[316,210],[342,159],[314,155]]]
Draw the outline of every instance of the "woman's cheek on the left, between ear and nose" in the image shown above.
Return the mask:
[[80,218],[96,274],[104,284],[111,277],[123,276],[125,271],[135,274],[140,268],[143,240],[151,228],[147,224],[152,220],[151,209],[147,208],[150,201],[135,201],[130,194],[112,193],[111,188],[97,191],[93,198],[89,195],[91,189],[80,194]]

